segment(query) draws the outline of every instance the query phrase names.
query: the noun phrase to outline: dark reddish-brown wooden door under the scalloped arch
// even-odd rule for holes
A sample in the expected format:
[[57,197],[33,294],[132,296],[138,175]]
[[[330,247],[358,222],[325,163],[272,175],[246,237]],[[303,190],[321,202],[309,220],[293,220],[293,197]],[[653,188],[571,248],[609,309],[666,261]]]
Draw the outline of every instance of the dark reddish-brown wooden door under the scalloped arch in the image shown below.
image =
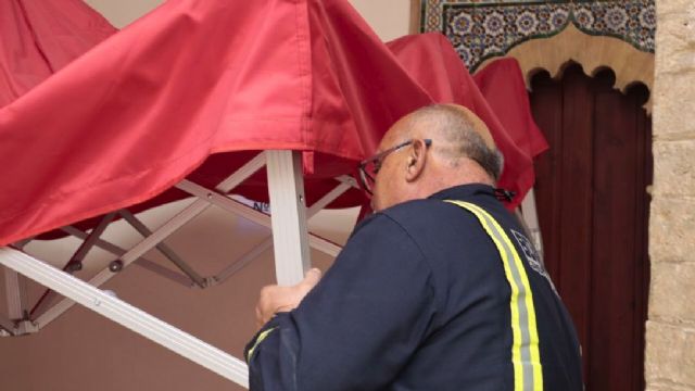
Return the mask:
[[531,105],[551,146],[535,162],[546,267],[572,315],[589,391],[644,390],[644,323],[652,184],[645,87],[569,66],[532,81]]

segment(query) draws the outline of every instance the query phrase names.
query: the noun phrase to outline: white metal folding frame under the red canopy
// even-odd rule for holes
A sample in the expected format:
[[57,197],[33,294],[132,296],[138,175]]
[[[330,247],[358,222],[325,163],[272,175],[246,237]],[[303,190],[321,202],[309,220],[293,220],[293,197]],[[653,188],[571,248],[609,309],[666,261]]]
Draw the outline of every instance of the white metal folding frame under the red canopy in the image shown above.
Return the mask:
[[[227,195],[230,190],[243,182],[243,180],[261,169],[264,165],[267,166],[268,173],[268,188],[273,207],[270,216],[245,206]],[[118,258],[114,261],[119,262],[118,267],[105,268],[88,282],[36,260],[17,249],[0,248],[0,264],[8,267],[5,276],[10,276],[5,278],[14,278],[13,276],[18,278],[18,275],[16,275],[16,273],[18,273],[65,297],[65,299],[46,311],[38,318],[27,321],[24,329],[20,329],[16,326],[14,326],[14,329],[11,329],[13,328],[13,319],[4,318],[0,318],[0,327],[7,330],[5,335],[35,332],[65,313],[75,303],[79,303],[229,380],[248,387],[248,369],[243,362],[113,295],[104,293],[98,287],[111,279],[122,267],[126,267],[137,261],[137,264],[140,266],[164,274],[166,277],[175,279],[178,282],[190,286],[192,280],[201,288],[205,288],[226,280],[270,247],[275,248],[276,278],[278,283],[296,283],[303,279],[304,273],[311,266],[309,245],[332,256],[338,255],[341,250],[340,245],[308,232],[306,228],[307,216],[311,217],[315,215],[351,187],[356,187],[354,180],[350,177],[337,179],[336,189],[307,210],[304,197],[301,152],[266,151],[252,159],[213,190],[186,179],[179,182],[176,186],[177,188],[195,195],[198,199],[154,231],[150,231],[128,212],[123,212],[122,215],[124,218],[144,236],[142,241],[129,250],[124,250],[116,244],[99,238],[100,235],[92,235],[93,232],[87,234],[75,227],[64,227],[64,231],[89,242],[83,244],[80,250],[86,245],[89,245],[89,248],[99,247],[118,256]],[[162,241],[213,204],[271,228],[273,237],[261,242],[218,275],[211,278],[203,278],[195,274],[188,265],[184,264],[181,260],[178,260],[176,254],[173,254],[170,249],[166,248]],[[143,257],[144,253],[155,247],[159,247],[160,251],[165,252],[165,255],[174,261],[177,266],[188,275],[190,280],[182,275],[170,272]],[[84,258],[86,251],[80,251],[78,255],[81,255],[81,258]],[[15,285],[9,285],[9,287],[12,289],[12,292],[18,291]],[[15,295],[13,300],[16,298]],[[16,315],[18,307],[17,304],[13,305],[15,310],[13,314]],[[25,308],[26,306],[20,307]],[[26,313],[25,310],[24,313]]]

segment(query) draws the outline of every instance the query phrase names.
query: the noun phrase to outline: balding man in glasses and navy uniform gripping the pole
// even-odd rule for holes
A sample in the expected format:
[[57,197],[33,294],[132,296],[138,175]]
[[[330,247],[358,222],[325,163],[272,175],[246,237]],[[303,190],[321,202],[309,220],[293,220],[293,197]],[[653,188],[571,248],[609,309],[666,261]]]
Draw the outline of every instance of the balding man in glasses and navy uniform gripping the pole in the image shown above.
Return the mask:
[[262,291],[251,389],[581,390],[570,317],[495,197],[485,125],[432,105],[379,151],[363,164],[376,213],[326,276]]

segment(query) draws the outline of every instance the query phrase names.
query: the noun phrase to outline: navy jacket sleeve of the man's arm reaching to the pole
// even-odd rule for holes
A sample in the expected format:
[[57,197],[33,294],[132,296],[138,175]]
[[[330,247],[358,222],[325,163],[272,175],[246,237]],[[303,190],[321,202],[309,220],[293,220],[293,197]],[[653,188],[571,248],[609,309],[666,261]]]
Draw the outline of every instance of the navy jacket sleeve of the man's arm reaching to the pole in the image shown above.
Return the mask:
[[300,306],[247,346],[251,390],[378,390],[427,337],[435,313],[430,268],[386,215],[361,225]]

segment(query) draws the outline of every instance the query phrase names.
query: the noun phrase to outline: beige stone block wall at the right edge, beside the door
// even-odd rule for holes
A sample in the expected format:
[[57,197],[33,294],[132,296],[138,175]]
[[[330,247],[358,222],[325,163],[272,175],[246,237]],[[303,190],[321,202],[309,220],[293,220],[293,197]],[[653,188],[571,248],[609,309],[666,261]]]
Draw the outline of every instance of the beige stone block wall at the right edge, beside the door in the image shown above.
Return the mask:
[[695,390],[695,2],[657,1],[647,390]]

